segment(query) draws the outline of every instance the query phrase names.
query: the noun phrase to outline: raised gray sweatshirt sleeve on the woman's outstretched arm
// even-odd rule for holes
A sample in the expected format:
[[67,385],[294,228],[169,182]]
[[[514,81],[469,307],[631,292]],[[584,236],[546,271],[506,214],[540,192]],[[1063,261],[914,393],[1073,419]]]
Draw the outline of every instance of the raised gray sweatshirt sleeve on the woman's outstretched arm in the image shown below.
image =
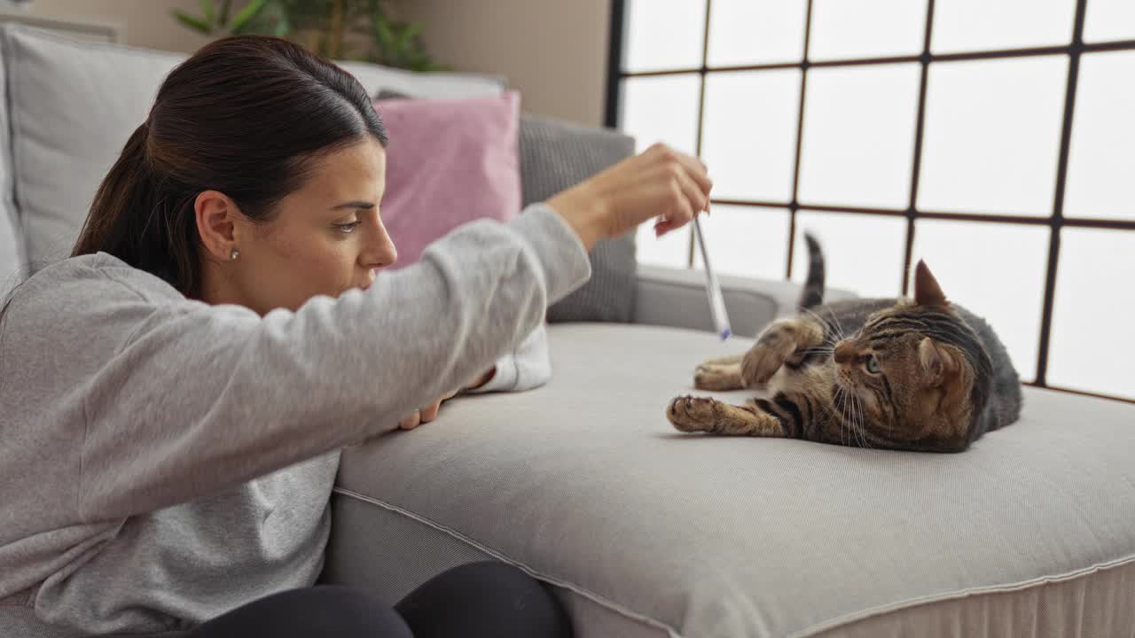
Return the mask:
[[574,233],[537,204],[296,312],[144,310],[78,388],[79,517],[173,505],[392,429],[514,351],[589,276]]

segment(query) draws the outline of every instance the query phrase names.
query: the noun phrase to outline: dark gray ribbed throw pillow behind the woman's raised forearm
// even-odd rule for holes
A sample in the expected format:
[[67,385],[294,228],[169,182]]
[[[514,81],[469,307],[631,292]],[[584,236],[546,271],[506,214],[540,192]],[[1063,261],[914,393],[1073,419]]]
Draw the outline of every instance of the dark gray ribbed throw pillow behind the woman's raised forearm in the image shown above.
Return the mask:
[[[388,90],[376,95],[410,96]],[[634,140],[616,131],[531,115],[520,116],[519,145],[524,205],[547,200],[634,152]],[[599,242],[590,259],[591,278],[552,304],[548,321],[631,321],[638,276],[634,233]]]

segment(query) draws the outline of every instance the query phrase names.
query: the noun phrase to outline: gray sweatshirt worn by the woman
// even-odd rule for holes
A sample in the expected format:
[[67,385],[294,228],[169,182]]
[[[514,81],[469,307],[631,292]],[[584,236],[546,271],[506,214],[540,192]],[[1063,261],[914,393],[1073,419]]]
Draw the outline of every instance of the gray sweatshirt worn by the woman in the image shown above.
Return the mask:
[[107,254],[36,274],[0,326],[0,635],[184,629],[313,584],[338,451],[494,362],[516,387],[546,351],[507,354],[589,275],[543,205],[264,317]]

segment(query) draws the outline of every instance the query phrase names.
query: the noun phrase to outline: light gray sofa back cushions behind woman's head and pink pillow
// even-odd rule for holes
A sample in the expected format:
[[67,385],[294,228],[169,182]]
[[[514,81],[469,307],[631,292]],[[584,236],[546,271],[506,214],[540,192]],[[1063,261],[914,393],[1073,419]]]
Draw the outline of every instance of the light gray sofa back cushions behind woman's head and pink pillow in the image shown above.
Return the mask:
[[[158,87],[186,56],[78,42],[24,25],[2,27],[8,120],[0,138],[0,274],[26,255],[31,269],[65,259],[94,192],[131,133],[145,119]],[[417,75],[345,62],[371,94],[384,87],[456,98],[498,93],[502,83],[463,74]],[[6,207],[6,208],[5,208]],[[12,236],[11,218],[23,234]],[[20,244],[25,249],[18,247]],[[17,246],[17,247],[11,247]]]

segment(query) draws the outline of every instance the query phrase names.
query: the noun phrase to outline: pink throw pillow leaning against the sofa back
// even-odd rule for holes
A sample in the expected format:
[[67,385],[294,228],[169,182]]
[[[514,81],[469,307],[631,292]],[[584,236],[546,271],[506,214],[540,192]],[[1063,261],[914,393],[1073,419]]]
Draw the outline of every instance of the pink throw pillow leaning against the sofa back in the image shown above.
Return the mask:
[[520,94],[463,100],[376,100],[389,134],[381,215],[395,268],[474,219],[520,213]]

